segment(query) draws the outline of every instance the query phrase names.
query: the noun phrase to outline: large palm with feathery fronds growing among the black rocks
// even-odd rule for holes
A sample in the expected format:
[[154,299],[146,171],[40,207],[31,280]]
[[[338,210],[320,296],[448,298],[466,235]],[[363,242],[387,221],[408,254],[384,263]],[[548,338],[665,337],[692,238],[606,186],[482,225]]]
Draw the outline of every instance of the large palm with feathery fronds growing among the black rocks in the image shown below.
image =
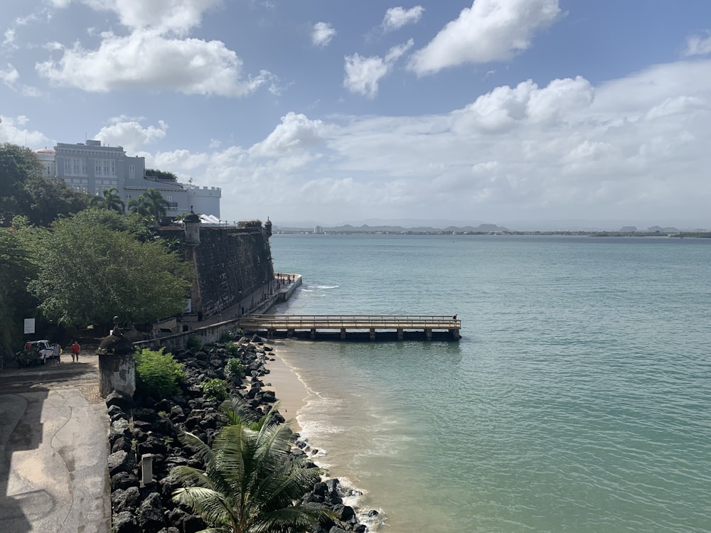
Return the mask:
[[173,468],[171,475],[185,485],[173,492],[173,501],[197,512],[211,527],[205,532],[303,532],[334,517],[326,507],[294,504],[323,472],[307,467],[306,458],[287,458],[294,438],[288,426],[274,421],[276,409],[251,421],[242,400],[233,398],[223,404],[230,425],[212,448],[191,433],[181,435],[205,470]]

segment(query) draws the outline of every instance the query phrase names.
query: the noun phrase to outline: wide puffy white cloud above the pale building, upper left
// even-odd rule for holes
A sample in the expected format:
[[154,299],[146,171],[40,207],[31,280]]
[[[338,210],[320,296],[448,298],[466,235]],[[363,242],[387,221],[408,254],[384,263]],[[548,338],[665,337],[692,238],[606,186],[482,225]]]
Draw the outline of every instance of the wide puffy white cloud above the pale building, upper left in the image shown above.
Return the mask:
[[243,77],[242,60],[220,41],[171,39],[154,31],[125,37],[104,33],[102,39],[97,50],[75,44],[59,61],[38,63],[36,70],[56,85],[89,92],[175,90],[243,97],[274,80],[266,71]]

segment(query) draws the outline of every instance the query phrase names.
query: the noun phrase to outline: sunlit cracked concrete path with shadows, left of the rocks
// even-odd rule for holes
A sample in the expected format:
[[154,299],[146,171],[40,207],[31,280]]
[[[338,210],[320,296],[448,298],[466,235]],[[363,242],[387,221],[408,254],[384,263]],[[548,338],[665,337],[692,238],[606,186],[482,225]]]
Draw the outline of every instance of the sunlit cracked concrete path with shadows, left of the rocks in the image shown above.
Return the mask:
[[78,363],[0,372],[0,532],[109,532],[97,365],[83,352]]

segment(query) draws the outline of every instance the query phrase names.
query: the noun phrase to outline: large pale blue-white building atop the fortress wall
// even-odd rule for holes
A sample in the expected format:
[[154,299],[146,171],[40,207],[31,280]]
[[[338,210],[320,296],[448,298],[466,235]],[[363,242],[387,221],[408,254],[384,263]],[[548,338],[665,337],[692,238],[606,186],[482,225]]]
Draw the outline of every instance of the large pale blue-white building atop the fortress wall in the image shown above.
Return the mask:
[[127,156],[122,146],[102,146],[101,141],[58,143],[54,150],[41,149],[35,153],[50,181],[63,181],[97,196],[115,187],[127,207],[146,190],[155,189],[169,204],[168,217],[190,212],[192,206],[196,212],[220,218],[220,188],[147,178],[145,158]]

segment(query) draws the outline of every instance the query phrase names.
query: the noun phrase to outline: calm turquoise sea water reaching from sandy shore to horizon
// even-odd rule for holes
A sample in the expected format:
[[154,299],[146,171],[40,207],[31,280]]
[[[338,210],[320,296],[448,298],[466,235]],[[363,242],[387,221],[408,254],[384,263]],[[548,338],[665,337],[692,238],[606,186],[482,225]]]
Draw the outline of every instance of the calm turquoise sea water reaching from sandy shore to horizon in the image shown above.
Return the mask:
[[287,340],[316,461],[379,532],[710,532],[711,239],[274,235],[292,314],[459,343]]

